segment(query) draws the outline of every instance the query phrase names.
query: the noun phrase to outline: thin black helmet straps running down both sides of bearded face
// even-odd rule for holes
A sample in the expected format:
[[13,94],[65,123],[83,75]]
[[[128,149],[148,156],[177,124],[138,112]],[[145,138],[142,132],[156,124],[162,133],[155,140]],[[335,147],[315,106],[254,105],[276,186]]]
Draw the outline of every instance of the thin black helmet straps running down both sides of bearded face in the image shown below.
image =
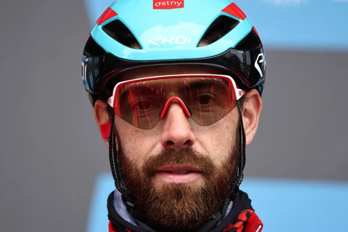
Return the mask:
[[[240,101],[237,101],[237,108],[239,113],[239,147],[240,147],[240,155],[239,155],[239,162],[236,167],[235,172],[235,181],[230,186],[230,194],[229,197],[224,201],[223,206],[221,210],[216,211],[207,222],[203,224],[202,227],[200,227],[197,232],[208,232],[212,228],[214,228],[219,221],[222,219],[222,215],[226,212],[229,204],[231,201],[235,201],[238,194],[239,194],[239,185],[243,181],[243,170],[245,167],[245,132],[244,132],[244,125],[243,125],[243,117],[242,112],[240,108]],[[124,183],[124,181],[121,178],[121,170],[120,170],[120,159],[117,153],[116,149],[116,137],[115,134],[117,131],[114,129],[114,114],[112,114],[111,119],[111,129],[110,129],[110,137],[108,138],[109,142],[109,159],[110,159],[110,167],[111,167],[111,173],[112,177],[115,181],[116,189],[122,194],[122,201],[124,202],[127,211],[137,220],[139,220],[142,223],[149,225],[154,225],[153,222],[151,222],[148,217],[146,216],[145,211],[140,209],[140,207],[137,207],[134,200],[130,197],[127,187]],[[118,136],[118,135],[117,135]]]

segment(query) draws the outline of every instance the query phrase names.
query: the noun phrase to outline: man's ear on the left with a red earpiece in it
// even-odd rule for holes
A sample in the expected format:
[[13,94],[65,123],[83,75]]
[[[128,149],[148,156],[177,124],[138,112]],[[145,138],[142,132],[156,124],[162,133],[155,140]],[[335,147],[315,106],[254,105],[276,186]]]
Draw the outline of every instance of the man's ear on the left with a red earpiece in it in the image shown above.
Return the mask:
[[94,118],[104,143],[109,147],[108,137],[110,135],[111,123],[107,107],[108,104],[101,100],[97,100],[94,104]]

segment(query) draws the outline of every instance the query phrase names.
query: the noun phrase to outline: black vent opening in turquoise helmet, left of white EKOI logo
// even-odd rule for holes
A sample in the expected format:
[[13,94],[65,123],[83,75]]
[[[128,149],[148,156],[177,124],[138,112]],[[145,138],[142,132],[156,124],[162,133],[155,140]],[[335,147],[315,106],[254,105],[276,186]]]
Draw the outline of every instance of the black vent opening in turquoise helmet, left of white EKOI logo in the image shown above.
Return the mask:
[[128,27],[120,20],[116,19],[102,27],[103,31],[119,43],[134,49],[142,49]]

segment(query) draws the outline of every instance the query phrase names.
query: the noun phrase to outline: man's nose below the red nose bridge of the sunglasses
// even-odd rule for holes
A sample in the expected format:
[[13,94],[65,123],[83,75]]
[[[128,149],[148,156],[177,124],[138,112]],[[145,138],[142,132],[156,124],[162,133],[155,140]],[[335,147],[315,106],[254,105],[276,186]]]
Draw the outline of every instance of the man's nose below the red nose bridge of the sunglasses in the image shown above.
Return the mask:
[[171,102],[164,121],[161,136],[163,147],[192,146],[195,143],[196,138],[191,131],[187,114],[178,102]]

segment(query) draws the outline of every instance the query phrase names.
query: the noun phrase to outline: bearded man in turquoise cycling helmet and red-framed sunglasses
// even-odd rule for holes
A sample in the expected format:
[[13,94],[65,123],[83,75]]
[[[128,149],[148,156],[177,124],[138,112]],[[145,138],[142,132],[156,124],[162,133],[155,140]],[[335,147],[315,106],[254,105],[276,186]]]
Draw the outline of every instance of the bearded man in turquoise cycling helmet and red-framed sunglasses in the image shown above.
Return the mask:
[[265,61],[230,0],[120,0],[98,19],[82,78],[116,190],[109,231],[260,232],[239,185]]

